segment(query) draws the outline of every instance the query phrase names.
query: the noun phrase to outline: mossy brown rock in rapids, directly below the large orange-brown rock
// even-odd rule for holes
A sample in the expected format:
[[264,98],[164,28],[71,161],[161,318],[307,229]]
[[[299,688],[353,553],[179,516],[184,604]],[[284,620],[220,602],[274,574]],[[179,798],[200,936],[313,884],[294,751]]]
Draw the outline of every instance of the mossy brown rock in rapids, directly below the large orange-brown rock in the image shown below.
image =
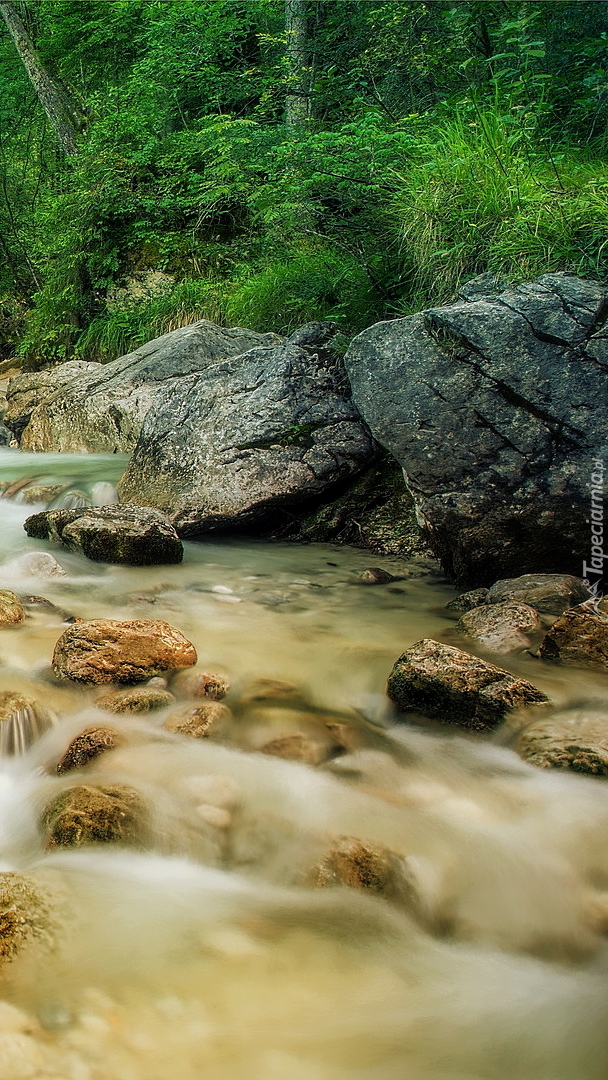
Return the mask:
[[48,849],[85,843],[140,845],[148,807],[126,784],[97,787],[81,784],[57,795],[44,810],[40,825]]

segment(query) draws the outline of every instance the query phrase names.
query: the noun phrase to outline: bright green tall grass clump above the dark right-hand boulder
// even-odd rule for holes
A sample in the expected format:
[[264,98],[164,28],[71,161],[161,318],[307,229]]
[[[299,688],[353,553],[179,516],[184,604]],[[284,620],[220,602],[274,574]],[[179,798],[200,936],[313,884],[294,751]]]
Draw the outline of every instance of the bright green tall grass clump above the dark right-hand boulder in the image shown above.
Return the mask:
[[448,299],[485,271],[607,276],[608,159],[597,149],[551,151],[513,116],[478,110],[430,127],[392,183],[404,311]]

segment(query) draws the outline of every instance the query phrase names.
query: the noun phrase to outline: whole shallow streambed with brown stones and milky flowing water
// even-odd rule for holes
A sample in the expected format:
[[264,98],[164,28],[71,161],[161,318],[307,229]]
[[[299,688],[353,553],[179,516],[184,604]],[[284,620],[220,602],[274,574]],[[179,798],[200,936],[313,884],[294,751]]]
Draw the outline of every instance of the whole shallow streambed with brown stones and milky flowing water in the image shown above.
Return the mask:
[[3,1080],[604,1080],[606,672],[538,654],[600,635],[584,586],[244,539],[112,565],[1,505]]

